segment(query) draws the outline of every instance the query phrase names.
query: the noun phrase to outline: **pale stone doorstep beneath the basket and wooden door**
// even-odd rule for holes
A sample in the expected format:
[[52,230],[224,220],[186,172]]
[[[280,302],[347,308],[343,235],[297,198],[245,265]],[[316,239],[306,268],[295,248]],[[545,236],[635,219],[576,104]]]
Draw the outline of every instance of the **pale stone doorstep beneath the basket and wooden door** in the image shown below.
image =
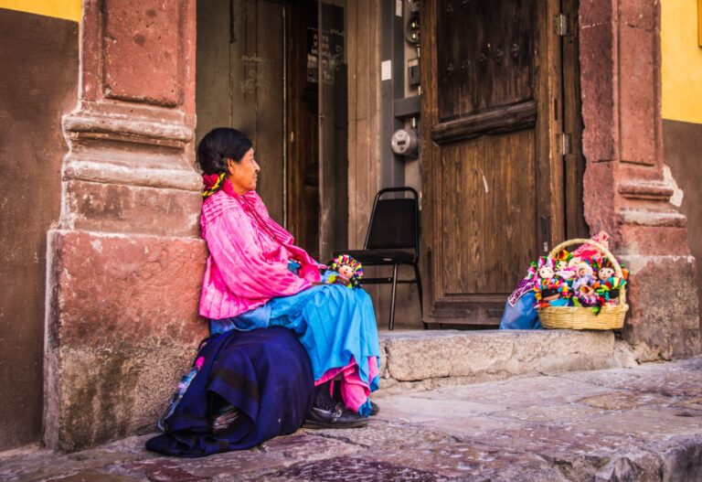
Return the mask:
[[380,394],[637,365],[633,350],[612,331],[405,330],[379,336]]

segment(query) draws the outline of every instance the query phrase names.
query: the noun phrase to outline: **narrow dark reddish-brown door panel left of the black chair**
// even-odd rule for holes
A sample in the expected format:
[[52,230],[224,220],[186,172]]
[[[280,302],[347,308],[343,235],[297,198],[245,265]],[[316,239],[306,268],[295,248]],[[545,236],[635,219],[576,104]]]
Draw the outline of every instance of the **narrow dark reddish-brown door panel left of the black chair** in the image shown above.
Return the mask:
[[288,227],[322,261],[347,244],[345,4],[286,5]]

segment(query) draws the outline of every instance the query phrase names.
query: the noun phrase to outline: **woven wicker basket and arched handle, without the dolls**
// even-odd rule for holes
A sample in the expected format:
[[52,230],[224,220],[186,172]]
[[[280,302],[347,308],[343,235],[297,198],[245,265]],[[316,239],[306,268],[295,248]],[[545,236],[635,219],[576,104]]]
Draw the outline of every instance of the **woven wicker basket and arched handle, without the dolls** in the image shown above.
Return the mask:
[[[548,253],[548,257],[555,259],[561,250],[573,244],[589,244],[597,248],[597,250],[607,256],[608,260],[612,261],[614,273],[623,278],[622,266],[619,265],[612,252],[597,241],[583,239],[563,241]],[[618,329],[624,326],[624,316],[626,316],[628,310],[626,287],[623,286],[619,291],[619,305],[602,305],[600,313],[597,315],[592,312],[591,307],[548,306],[538,310],[538,317],[541,318],[541,326],[545,328]]]

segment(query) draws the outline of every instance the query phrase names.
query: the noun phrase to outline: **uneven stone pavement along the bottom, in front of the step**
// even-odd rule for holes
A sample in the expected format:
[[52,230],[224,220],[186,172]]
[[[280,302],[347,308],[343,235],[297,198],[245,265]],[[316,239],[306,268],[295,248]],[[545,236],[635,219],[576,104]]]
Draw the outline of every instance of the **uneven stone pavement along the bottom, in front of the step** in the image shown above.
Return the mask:
[[0,480],[702,480],[702,359],[533,374],[378,398],[367,428],[300,430],[202,459],[150,435],[0,453]]

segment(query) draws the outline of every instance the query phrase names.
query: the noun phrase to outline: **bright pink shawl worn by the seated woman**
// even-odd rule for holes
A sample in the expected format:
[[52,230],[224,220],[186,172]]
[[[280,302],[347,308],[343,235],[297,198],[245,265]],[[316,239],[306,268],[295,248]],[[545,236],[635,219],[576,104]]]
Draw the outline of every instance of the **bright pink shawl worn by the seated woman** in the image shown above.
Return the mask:
[[[200,222],[209,249],[201,316],[237,316],[320,281],[322,265],[293,244],[293,235],[271,219],[255,191],[239,195],[225,182],[203,202]],[[300,263],[299,275],[288,270],[288,260]]]

